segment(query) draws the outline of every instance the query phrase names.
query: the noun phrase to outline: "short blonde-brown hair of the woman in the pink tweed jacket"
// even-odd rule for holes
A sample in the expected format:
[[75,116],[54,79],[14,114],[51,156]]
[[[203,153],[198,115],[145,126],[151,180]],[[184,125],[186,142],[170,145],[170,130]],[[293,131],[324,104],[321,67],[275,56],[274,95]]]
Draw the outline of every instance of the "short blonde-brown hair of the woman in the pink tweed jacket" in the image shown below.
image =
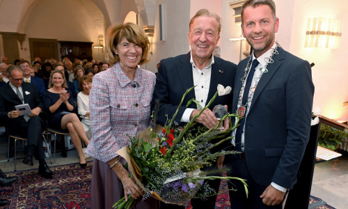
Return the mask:
[[139,65],[143,65],[150,61],[150,59],[148,59],[148,51],[150,49],[148,36],[138,25],[132,22],[127,22],[125,24],[115,24],[110,26],[106,31],[105,49],[108,55],[108,61],[111,65],[119,61],[115,49],[123,38],[126,38],[129,42],[132,42],[143,49]]

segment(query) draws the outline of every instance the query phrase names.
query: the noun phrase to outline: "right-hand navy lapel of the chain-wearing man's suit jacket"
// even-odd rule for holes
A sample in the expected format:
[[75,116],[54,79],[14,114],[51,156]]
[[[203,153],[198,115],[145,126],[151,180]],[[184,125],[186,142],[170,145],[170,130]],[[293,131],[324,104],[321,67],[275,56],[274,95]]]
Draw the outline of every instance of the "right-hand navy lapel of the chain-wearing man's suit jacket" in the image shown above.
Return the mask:
[[278,47],[277,51],[278,51],[278,54],[274,54],[274,56],[272,57],[272,59],[274,60],[274,63],[269,63],[267,65],[268,72],[264,72],[262,74],[260,82],[258,83],[258,86],[255,89],[255,93],[253,95],[253,100],[251,100],[251,105],[250,105],[249,111],[253,108],[253,104],[256,102],[256,100],[258,100],[260,93],[264,90],[264,87],[267,86],[269,80],[271,79],[271,77],[273,77],[274,73],[279,68],[281,63],[283,62],[284,49]]

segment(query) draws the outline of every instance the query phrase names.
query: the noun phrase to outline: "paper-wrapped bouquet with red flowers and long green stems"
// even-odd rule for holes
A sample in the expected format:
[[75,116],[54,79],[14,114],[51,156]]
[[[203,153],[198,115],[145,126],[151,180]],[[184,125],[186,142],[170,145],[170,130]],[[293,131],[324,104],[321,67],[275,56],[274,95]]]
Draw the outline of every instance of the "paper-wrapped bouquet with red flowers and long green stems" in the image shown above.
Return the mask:
[[[125,158],[128,163],[128,169],[135,182],[143,189],[143,199],[153,196],[160,201],[173,203],[177,205],[186,205],[193,198],[204,198],[216,195],[214,189],[204,180],[213,179],[237,179],[244,183],[246,194],[248,189],[245,181],[235,177],[223,177],[221,172],[228,169],[212,169],[201,171],[203,167],[212,166],[212,162],[222,155],[237,153],[236,151],[219,150],[211,153],[213,148],[222,145],[224,142],[232,139],[230,132],[237,125],[227,130],[219,130],[221,123],[227,117],[240,117],[237,114],[226,114],[221,118],[219,124],[212,129],[196,125],[195,119],[209,107],[217,96],[215,93],[207,106],[201,108],[200,113],[196,115],[184,127],[174,124],[174,118],[179,111],[185,96],[194,88],[189,88],[184,93],[177,111],[173,118],[168,120],[164,127],[157,125],[155,128],[148,127],[136,137],[130,138],[130,145],[118,150],[118,154]],[[213,142],[216,141],[217,142]],[[220,176],[212,176],[217,173]],[[130,208],[137,200],[132,196],[120,199],[113,208]]]

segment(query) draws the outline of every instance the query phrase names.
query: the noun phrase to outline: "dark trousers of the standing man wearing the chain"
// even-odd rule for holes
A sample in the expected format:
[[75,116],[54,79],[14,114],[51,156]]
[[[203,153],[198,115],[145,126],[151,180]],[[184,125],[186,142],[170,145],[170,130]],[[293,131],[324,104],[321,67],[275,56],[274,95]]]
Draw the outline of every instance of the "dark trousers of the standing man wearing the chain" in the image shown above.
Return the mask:
[[[260,198],[261,194],[269,185],[258,185],[255,183],[253,178],[251,178],[248,172],[248,167],[246,167],[246,161],[237,155],[226,155],[225,164],[228,164],[230,171],[228,176],[239,177],[246,180],[248,184],[248,198],[246,197],[246,192],[243,183],[239,180],[231,180],[228,183],[228,189],[235,189],[235,191],[230,190],[230,202],[231,208],[241,208],[241,209],[281,209],[283,202],[277,206],[267,206],[262,203]],[[237,189],[237,190],[236,190]],[[284,197],[285,199],[285,197]]]

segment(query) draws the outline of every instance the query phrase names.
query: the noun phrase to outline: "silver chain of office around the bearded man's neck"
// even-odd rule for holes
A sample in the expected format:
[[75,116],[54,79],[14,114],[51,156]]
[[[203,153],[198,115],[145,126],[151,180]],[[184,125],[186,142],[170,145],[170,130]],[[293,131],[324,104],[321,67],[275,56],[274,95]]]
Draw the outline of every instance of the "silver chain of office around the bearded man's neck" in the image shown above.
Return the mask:
[[243,94],[244,94],[244,91],[246,91],[246,89],[244,89],[245,85],[246,85],[246,79],[248,77],[248,72],[249,72],[249,70],[251,68],[251,59],[253,57],[254,51],[249,56],[248,63],[246,63],[246,68],[244,70],[244,76],[241,78],[241,80],[242,80],[242,88],[239,91],[239,98],[238,98],[238,105],[239,105],[238,115],[239,116],[243,117],[244,114],[246,113],[246,107],[248,106],[248,104],[251,102],[251,99],[253,98],[254,92],[256,90],[256,86],[258,86],[258,83],[259,83],[259,81],[260,81],[260,79],[262,77],[262,74],[264,72],[268,72],[267,65],[269,63],[274,63],[274,60],[272,59],[272,57],[274,56],[274,54],[278,54],[278,51],[277,51],[278,47],[280,47],[280,45],[278,44],[278,42],[276,42],[276,47],[275,48],[271,48],[271,56],[264,58],[264,61],[266,61],[266,65],[264,65],[263,68],[259,68],[259,70],[261,70],[260,76],[254,78],[255,79],[255,85],[250,88],[250,93],[248,93],[248,100],[246,101],[246,104],[242,104]]

